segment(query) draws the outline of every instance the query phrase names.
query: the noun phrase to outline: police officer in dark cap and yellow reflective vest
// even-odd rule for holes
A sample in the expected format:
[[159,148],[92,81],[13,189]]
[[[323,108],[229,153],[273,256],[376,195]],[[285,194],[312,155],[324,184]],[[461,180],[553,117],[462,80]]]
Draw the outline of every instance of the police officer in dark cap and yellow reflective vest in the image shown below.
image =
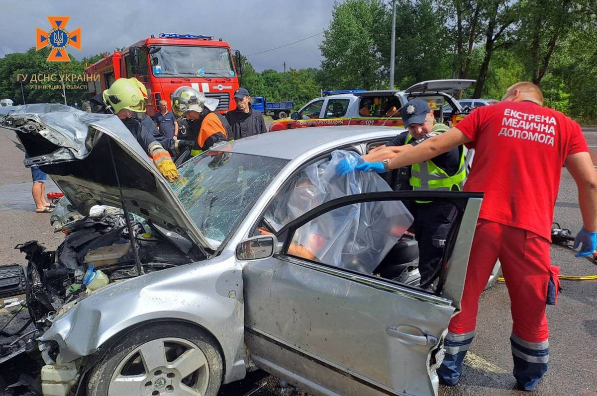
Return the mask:
[[[401,111],[406,132],[402,132],[384,146],[376,147],[362,157],[361,163],[341,162],[337,166],[338,174],[347,174],[353,170],[389,171],[389,158],[393,156],[393,146],[417,144],[450,129],[447,125],[436,123],[433,110],[427,101],[413,99],[402,106]],[[466,178],[464,149],[455,147],[447,153],[411,165],[409,184],[413,190],[460,191]],[[456,217],[454,206],[449,203],[417,201],[410,205],[414,215],[415,237],[418,242],[421,284],[433,277],[439,261],[444,255],[445,240],[452,222]]]

